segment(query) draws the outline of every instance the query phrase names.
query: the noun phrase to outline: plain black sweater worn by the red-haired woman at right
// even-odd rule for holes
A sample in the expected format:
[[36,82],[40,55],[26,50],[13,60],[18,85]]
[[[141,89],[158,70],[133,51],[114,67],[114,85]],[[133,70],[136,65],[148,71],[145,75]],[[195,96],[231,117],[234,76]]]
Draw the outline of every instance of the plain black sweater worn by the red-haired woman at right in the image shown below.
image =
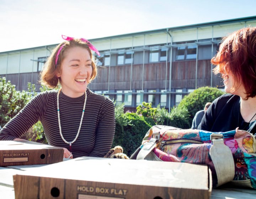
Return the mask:
[[250,124],[244,122],[239,112],[239,103],[240,97],[237,95],[225,94],[218,97],[207,109],[197,129],[212,132],[226,132],[239,127],[241,130],[247,130],[252,134],[256,134],[256,120],[251,121]]

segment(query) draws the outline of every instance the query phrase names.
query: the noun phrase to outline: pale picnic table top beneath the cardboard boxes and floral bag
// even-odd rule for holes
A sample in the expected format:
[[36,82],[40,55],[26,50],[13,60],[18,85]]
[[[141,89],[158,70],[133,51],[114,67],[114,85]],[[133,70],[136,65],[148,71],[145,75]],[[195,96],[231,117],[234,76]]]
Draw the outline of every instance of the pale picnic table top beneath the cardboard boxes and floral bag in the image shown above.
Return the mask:
[[[65,159],[66,160],[66,159]],[[47,165],[20,165],[0,167],[0,198],[14,199],[13,175],[21,174],[35,167],[44,167]],[[224,185],[212,190],[211,199],[254,199],[256,190],[245,188],[234,188]]]

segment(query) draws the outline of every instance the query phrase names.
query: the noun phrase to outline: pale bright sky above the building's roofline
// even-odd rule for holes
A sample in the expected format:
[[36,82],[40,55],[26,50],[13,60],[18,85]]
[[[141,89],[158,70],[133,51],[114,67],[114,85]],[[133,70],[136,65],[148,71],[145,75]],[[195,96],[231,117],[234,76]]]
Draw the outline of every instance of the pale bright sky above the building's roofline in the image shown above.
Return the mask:
[[256,16],[256,0],[0,0],[0,52]]

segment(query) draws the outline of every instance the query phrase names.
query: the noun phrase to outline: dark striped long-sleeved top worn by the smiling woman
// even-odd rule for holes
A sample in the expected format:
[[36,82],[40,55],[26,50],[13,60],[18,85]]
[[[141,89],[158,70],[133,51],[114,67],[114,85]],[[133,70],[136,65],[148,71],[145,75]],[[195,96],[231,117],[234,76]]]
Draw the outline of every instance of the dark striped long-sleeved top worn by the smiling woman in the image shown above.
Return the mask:
[[[65,147],[59,133],[57,115],[58,90],[45,91],[35,96],[0,131],[0,140],[14,140],[27,132],[38,120],[41,121],[49,145]],[[103,157],[111,145],[115,132],[114,103],[111,99],[93,93],[87,88],[84,118],[78,138],[72,144],[73,157]],[[61,91],[59,96],[60,122],[66,141],[75,139],[78,132],[85,94],[71,98]]]

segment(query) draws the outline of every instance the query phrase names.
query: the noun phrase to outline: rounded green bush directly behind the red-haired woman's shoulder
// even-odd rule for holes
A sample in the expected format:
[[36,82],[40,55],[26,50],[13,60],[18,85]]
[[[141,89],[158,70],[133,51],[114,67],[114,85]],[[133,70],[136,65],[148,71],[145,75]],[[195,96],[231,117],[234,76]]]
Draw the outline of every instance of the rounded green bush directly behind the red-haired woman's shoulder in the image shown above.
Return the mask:
[[213,102],[214,99],[223,94],[224,92],[218,88],[201,87],[185,96],[180,104],[178,104],[178,109],[185,108],[188,110],[188,114],[190,115],[189,123],[192,124],[193,117],[197,111],[203,110],[207,102]]

